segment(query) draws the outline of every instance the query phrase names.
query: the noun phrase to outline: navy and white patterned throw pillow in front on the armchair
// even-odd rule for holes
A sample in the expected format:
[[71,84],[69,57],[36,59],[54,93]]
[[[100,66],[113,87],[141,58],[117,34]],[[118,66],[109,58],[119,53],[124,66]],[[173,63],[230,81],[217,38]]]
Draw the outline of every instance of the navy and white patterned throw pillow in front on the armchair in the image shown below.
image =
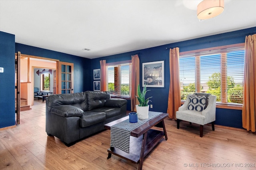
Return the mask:
[[194,110],[202,112],[206,105],[206,97],[205,96],[197,96],[197,95],[188,95],[189,104],[188,110]]

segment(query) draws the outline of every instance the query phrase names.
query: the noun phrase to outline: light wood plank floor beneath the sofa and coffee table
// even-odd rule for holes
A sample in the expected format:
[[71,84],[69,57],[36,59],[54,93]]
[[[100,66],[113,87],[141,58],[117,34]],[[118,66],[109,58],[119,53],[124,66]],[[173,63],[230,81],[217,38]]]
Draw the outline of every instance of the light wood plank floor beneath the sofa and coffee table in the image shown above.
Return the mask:
[[[45,102],[35,99],[30,111],[22,111],[20,125],[0,131],[0,169],[122,170],[138,165],[117,156],[107,157],[110,130],[65,146],[45,132]],[[164,138],[146,156],[144,170],[249,170],[256,167],[256,134],[235,128],[204,127],[165,119],[168,140]]]

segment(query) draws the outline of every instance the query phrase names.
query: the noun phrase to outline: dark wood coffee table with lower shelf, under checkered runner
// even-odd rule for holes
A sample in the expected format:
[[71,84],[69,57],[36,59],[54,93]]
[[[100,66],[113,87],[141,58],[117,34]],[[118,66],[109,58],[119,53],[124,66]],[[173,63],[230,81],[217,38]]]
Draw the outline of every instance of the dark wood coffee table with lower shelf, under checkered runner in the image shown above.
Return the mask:
[[[154,148],[154,146],[156,146],[156,144],[158,144],[158,142],[164,136],[165,140],[167,140],[167,134],[164,126],[164,119],[166,117],[168,117],[167,113],[161,113],[140,127],[132,130],[130,138],[130,153],[128,154],[118,148],[110,147],[108,149],[107,159],[111,157],[111,154],[114,154],[134,164],[139,163],[138,169],[141,170],[144,157]],[[117,123],[120,123],[126,119],[129,119],[129,116],[110,122],[104,125],[104,127],[110,130],[113,125],[116,125]],[[163,128],[163,131],[151,129],[152,127]]]

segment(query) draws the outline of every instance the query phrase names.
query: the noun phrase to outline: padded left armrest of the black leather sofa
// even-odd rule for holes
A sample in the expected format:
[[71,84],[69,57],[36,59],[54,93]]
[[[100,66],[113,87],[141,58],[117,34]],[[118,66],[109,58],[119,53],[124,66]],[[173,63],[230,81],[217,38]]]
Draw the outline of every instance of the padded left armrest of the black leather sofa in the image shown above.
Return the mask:
[[72,105],[54,106],[50,112],[62,117],[82,117],[84,115],[84,111],[82,109]]

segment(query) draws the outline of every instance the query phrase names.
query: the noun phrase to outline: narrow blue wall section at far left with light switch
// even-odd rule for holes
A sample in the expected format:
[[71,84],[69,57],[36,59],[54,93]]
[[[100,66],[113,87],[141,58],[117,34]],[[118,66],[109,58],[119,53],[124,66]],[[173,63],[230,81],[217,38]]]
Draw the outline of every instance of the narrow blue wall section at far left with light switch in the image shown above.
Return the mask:
[[15,125],[15,36],[0,32],[0,128]]

